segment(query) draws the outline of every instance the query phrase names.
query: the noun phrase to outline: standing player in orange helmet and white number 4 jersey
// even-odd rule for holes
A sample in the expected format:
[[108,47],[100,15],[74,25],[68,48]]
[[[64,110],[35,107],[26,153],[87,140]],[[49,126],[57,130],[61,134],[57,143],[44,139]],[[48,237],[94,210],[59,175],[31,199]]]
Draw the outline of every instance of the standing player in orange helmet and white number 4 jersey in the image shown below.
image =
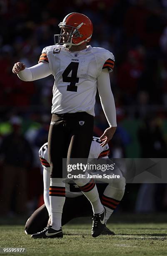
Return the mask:
[[[61,32],[57,44],[43,49],[39,64],[25,68],[15,63],[12,71],[23,81],[33,81],[52,74],[55,77],[52,98],[52,120],[48,136],[50,162],[50,214],[51,225],[34,238],[62,237],[61,218],[65,203],[65,183],[62,179],[62,158],[67,164],[72,159],[87,159],[93,136],[95,96],[98,88],[102,108],[109,128],[100,138],[105,146],[115,133],[116,111],[110,86],[109,72],[114,68],[115,58],[103,48],[87,46],[93,25],[81,13],[70,13],[60,22]],[[57,147],[57,144],[59,147]],[[79,149],[79,150],[78,150]],[[76,179],[75,183],[92,204],[94,213],[92,236],[102,233],[105,225],[105,208],[100,202],[92,179]]]

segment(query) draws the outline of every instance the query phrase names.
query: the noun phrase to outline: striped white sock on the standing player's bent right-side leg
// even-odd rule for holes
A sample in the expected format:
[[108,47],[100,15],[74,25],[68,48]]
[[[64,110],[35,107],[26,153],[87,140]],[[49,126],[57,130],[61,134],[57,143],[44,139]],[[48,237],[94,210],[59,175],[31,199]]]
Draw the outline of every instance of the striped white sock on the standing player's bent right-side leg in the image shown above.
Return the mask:
[[[86,174],[87,175],[87,174]],[[87,179],[77,179],[74,181],[81,189],[82,193],[87,197],[92,205],[92,210],[94,213],[101,213],[104,210],[102,203],[100,202],[99,193],[97,191],[96,184],[93,179],[89,183]],[[84,191],[83,191],[84,190]]]

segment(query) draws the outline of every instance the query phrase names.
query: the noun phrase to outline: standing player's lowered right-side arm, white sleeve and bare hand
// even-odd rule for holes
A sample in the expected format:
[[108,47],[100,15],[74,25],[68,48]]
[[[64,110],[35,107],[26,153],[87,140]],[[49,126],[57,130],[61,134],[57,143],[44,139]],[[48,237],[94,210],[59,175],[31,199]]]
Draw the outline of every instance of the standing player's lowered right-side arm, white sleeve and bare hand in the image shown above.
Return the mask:
[[107,128],[103,135],[100,137],[102,142],[100,145],[105,146],[112,136],[114,135],[117,128],[115,101],[110,86],[110,76],[107,69],[103,69],[100,75],[97,77],[97,88],[102,104],[102,109],[105,113],[110,128]]

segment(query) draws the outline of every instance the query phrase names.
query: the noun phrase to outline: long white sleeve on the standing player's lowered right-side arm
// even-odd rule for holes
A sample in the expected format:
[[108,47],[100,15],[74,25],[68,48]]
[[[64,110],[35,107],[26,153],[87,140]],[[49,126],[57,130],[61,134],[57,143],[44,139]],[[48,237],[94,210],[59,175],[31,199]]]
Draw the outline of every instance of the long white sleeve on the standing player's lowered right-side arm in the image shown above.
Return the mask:
[[105,113],[110,127],[117,126],[115,101],[110,86],[110,75],[107,69],[103,69],[97,77],[97,88],[102,104],[102,109]]

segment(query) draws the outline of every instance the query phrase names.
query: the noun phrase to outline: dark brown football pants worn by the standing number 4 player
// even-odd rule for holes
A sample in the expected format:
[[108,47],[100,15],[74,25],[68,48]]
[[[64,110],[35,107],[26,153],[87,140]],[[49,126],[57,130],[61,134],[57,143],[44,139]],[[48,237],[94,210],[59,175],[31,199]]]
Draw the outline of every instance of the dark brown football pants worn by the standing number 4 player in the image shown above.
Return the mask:
[[[51,178],[62,178],[62,158],[87,159],[93,137],[94,117],[86,112],[52,114],[48,135]],[[64,178],[64,177],[63,177]]]

